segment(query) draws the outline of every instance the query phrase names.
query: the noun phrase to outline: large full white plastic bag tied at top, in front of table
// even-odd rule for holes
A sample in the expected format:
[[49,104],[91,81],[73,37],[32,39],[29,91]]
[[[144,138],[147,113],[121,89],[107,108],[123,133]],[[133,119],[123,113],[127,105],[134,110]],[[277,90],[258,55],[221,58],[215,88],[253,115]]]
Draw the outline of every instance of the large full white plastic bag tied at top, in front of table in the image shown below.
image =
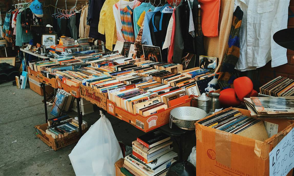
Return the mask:
[[69,154],[76,175],[115,175],[114,163],[123,157],[110,121],[100,115]]

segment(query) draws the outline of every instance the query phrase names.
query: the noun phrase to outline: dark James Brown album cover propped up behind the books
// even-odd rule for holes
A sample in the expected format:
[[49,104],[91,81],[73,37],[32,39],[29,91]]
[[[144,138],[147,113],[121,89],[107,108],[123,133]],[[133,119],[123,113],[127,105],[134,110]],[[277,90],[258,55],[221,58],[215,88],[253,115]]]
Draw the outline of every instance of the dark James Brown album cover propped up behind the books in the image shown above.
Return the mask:
[[154,61],[154,62],[162,62],[160,47],[158,46],[149,46],[142,45],[143,53],[146,60]]

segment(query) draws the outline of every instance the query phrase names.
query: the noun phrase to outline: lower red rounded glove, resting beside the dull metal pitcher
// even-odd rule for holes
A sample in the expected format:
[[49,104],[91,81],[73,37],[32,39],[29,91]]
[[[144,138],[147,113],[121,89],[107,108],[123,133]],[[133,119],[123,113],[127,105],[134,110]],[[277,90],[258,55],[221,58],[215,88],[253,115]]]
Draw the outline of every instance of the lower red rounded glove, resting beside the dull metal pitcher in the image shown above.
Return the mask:
[[219,100],[221,105],[228,107],[236,107],[241,104],[241,101],[238,99],[233,88],[228,88],[220,91]]

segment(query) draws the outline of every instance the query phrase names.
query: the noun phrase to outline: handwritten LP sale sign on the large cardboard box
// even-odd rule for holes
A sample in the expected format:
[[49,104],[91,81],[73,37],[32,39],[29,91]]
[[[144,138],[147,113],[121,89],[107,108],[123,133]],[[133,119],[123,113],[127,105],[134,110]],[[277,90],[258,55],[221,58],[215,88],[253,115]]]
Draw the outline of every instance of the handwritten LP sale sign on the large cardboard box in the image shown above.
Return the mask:
[[270,175],[287,175],[294,167],[294,128],[270,152]]

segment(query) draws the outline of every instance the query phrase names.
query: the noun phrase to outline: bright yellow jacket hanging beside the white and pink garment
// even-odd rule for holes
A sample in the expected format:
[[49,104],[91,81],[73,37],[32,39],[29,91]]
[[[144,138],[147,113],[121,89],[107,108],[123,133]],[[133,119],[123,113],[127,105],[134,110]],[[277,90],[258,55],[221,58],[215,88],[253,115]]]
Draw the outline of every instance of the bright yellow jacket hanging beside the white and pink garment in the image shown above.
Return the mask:
[[[98,32],[105,34],[106,49],[112,51],[112,45],[116,43],[116,25],[113,15],[113,5],[119,0],[106,0],[100,11],[100,18],[98,24]],[[128,1],[128,0],[126,0]]]

